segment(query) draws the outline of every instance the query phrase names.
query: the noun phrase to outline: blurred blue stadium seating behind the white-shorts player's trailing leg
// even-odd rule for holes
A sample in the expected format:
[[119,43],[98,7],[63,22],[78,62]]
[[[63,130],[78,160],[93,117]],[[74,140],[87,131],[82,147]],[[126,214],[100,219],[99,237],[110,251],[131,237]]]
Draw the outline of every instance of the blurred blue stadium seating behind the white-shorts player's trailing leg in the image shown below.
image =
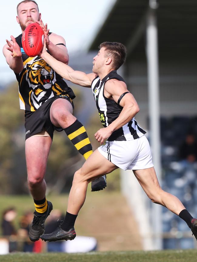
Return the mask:
[[[179,147],[188,132],[197,136],[197,117],[160,119],[161,156],[163,167],[162,187],[177,196],[193,217],[197,216],[197,162],[179,158]],[[194,238],[187,224],[168,209],[162,209],[163,248],[194,248]]]

